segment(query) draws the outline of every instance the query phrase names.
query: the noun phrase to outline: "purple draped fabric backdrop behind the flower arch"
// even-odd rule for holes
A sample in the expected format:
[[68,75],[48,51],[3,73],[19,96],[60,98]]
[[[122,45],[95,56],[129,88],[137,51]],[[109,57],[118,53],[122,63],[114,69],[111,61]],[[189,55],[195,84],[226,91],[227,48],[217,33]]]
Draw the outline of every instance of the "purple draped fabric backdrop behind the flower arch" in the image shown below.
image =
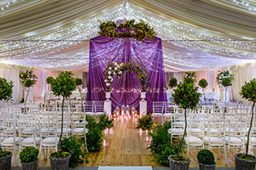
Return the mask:
[[[88,101],[105,100],[106,83],[104,72],[109,62],[129,62],[147,69],[149,84],[146,100],[148,111],[152,111],[153,101],[166,101],[166,79],[163,65],[162,43],[154,41],[137,42],[133,38],[95,37],[90,40],[90,63],[88,77]],[[123,72],[111,82],[113,108],[130,105],[139,108],[141,83],[136,73]]]

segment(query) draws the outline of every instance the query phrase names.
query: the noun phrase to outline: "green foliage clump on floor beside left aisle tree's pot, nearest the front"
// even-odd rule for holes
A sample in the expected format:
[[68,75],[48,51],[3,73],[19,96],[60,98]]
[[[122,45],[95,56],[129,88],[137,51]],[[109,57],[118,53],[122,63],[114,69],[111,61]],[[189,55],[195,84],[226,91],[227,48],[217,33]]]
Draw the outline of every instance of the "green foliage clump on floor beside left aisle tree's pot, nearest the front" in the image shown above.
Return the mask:
[[69,167],[75,168],[78,166],[78,163],[82,163],[85,159],[82,143],[76,140],[74,136],[61,141],[61,150],[71,154]]

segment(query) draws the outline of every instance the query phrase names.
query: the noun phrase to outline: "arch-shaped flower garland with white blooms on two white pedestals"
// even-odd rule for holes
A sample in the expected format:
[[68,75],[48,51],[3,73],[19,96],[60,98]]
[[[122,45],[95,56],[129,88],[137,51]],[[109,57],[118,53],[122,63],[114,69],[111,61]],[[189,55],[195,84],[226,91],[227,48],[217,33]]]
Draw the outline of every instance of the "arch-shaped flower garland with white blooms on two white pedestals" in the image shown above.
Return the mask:
[[142,84],[142,92],[146,92],[146,87],[148,86],[149,77],[148,72],[144,70],[141,66],[135,65],[133,62],[128,63],[109,63],[107,65],[107,69],[105,71],[105,82],[107,85],[106,92],[110,92],[110,82],[113,82],[113,76],[116,75],[116,77],[121,77],[124,71],[131,71],[136,72],[139,81]]

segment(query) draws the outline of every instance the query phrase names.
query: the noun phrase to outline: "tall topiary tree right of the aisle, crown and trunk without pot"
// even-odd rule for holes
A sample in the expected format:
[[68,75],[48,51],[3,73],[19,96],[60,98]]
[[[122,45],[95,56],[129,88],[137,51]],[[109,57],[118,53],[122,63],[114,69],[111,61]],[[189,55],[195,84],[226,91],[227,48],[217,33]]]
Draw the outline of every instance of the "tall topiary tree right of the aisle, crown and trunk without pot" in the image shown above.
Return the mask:
[[[185,78],[186,79],[186,78]],[[183,156],[179,156],[180,150],[184,144],[185,134],[187,133],[187,111],[188,109],[195,109],[196,105],[198,105],[201,94],[197,92],[198,87],[195,87],[194,82],[183,81],[183,83],[178,84],[177,88],[174,89],[173,99],[174,103],[180,105],[184,111],[185,117],[185,128],[183,133],[183,138],[179,143],[179,148],[177,151],[177,157],[183,158]]]

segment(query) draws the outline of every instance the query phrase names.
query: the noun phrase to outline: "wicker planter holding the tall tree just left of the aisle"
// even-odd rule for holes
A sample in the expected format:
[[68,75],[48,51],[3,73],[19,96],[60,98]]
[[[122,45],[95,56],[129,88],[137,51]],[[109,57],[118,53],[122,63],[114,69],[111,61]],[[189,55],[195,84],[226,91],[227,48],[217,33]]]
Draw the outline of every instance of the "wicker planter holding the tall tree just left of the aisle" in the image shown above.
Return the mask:
[[65,158],[53,158],[49,156],[50,167],[52,170],[68,170],[68,163],[70,160],[71,154]]

